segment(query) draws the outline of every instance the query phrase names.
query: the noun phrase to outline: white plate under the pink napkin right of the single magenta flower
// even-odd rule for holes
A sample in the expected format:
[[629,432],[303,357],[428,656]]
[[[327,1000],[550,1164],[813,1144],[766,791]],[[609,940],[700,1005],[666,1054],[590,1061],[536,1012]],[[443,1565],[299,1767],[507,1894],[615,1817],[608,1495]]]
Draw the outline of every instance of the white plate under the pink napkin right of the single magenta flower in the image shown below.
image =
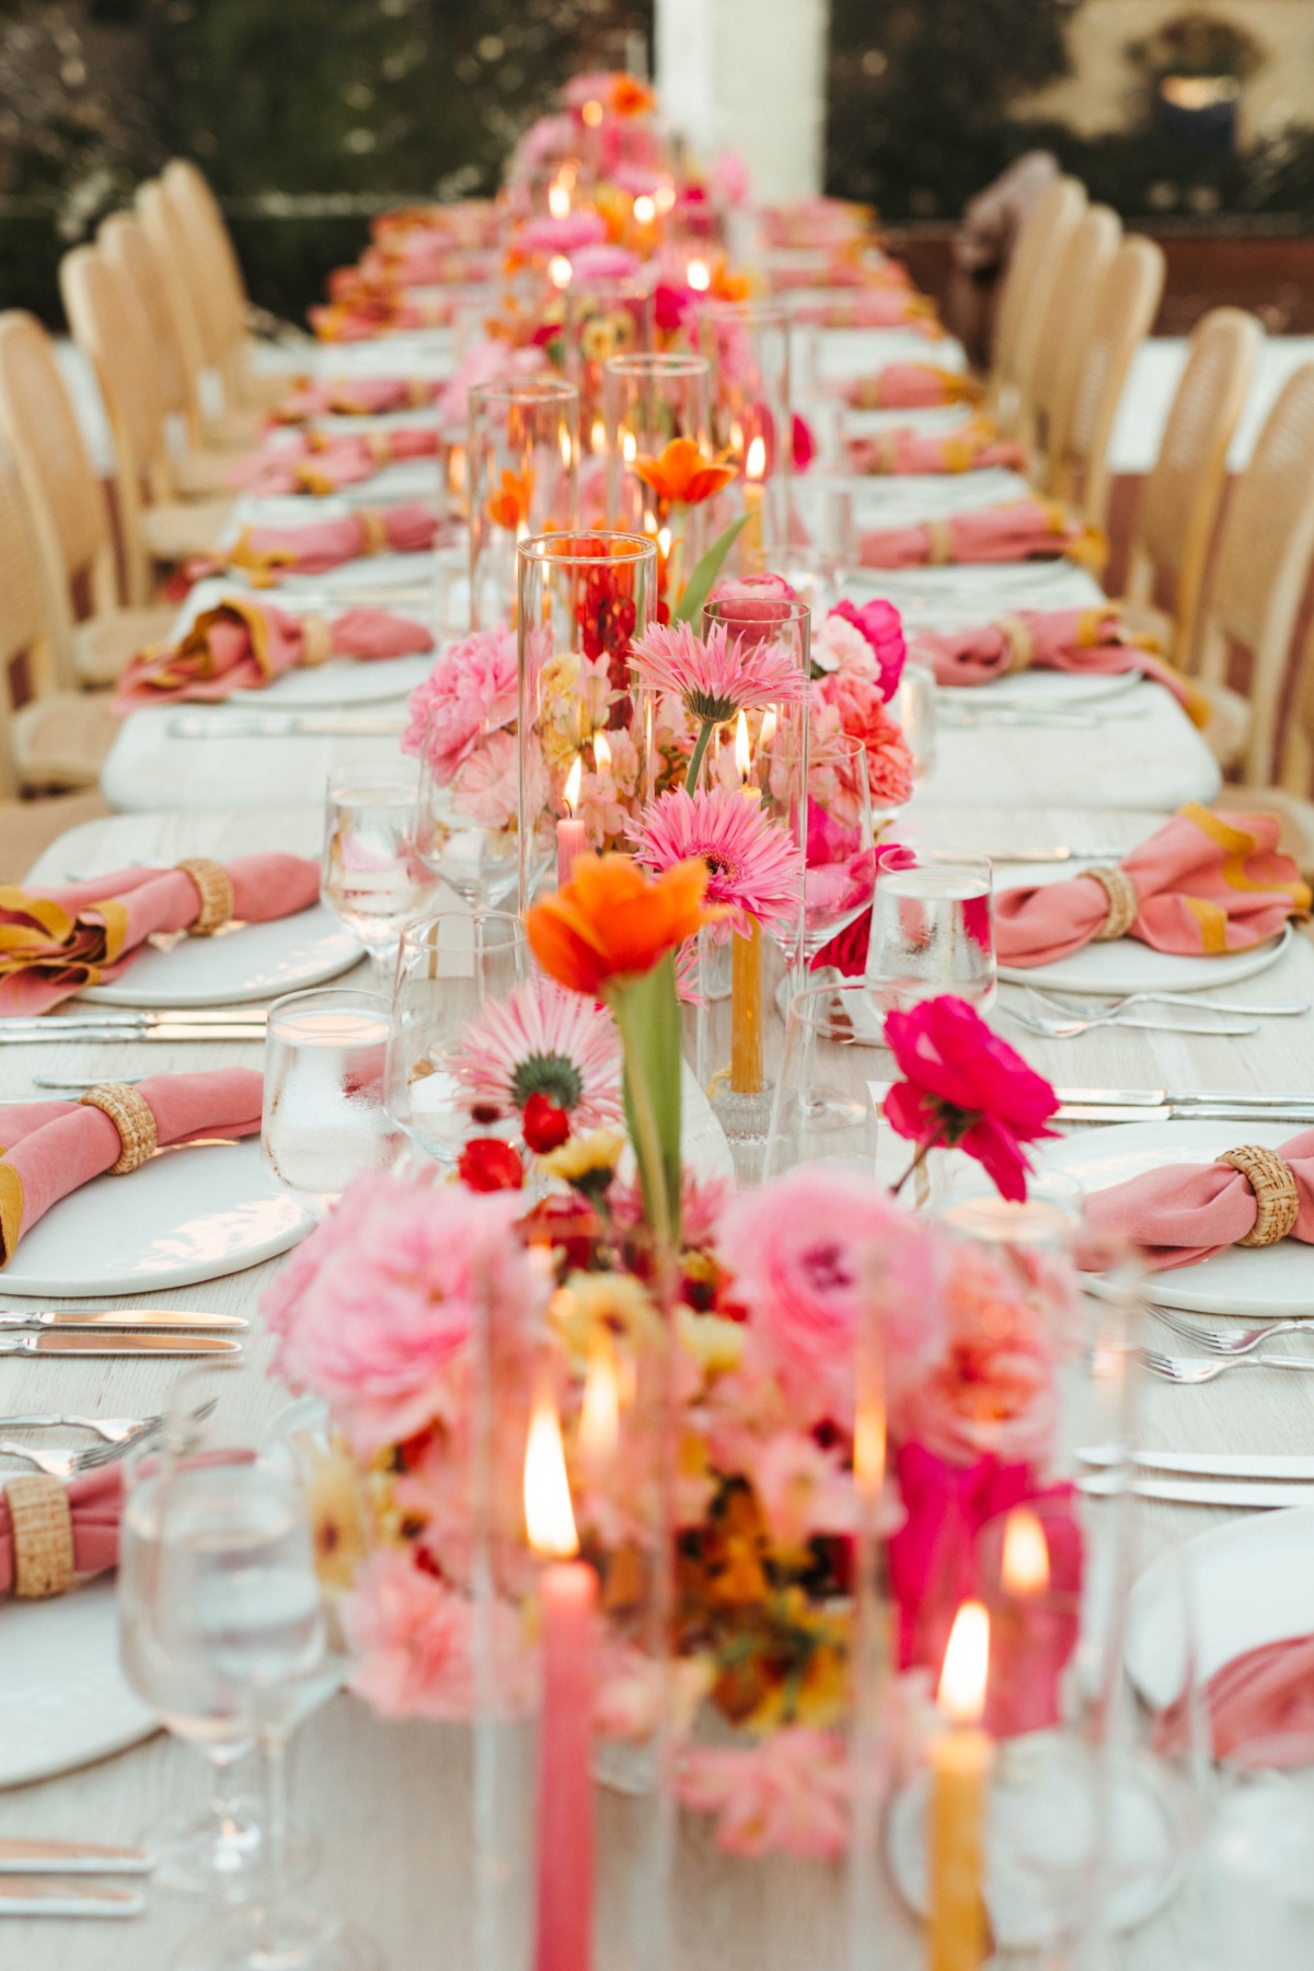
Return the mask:
[[[1237,1143],[1277,1149],[1300,1133],[1300,1125],[1290,1121],[1127,1121],[1082,1129],[1062,1143],[1038,1143],[1036,1163],[1076,1177],[1089,1196],[1170,1163],[1214,1163]],[[1294,1238],[1277,1246],[1229,1246],[1196,1265],[1149,1273],[1145,1291],[1164,1307],[1200,1315],[1253,1321],[1314,1317],[1314,1250]],[[1190,1352],[1190,1344],[1184,1342],[1182,1350]]]

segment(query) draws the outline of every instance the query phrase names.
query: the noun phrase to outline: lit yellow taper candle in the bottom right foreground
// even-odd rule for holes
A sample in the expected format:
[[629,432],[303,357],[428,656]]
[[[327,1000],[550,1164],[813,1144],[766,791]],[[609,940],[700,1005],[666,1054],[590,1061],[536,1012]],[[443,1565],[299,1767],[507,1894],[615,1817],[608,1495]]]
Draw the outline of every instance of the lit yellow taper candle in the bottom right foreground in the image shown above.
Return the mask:
[[981,1900],[981,1835],[991,1770],[989,1733],[981,1731],[991,1656],[991,1618],[981,1602],[963,1602],[944,1652],[938,1703],[950,1729],[930,1746],[930,1971],[977,1971],[989,1953]]

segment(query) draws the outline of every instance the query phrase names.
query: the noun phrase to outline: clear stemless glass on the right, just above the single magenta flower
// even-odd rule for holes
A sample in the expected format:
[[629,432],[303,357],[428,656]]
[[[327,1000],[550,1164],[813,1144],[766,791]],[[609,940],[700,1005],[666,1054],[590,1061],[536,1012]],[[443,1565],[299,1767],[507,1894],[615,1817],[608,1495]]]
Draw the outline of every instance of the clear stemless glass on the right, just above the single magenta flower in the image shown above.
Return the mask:
[[985,855],[918,850],[912,867],[883,869],[871,905],[867,984],[888,1007],[938,993],[995,1003],[991,863]]

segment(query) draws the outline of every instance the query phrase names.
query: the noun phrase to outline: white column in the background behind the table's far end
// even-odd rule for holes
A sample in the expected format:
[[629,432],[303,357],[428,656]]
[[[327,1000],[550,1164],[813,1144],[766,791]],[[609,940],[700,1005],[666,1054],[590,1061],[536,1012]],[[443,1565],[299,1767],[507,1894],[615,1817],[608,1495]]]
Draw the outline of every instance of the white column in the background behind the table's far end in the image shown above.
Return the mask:
[[668,120],[711,162],[737,150],[758,199],[821,189],[827,0],[656,0]]

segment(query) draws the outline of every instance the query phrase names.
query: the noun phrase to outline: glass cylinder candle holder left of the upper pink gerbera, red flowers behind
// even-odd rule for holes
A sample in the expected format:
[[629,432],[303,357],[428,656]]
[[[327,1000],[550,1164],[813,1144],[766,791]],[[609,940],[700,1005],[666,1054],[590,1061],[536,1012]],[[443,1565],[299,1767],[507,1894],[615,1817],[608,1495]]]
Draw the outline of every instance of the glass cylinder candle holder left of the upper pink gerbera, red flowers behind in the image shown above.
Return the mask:
[[628,850],[654,782],[656,704],[632,643],[656,617],[658,548],[642,534],[520,544],[520,909],[569,881],[585,850]]

